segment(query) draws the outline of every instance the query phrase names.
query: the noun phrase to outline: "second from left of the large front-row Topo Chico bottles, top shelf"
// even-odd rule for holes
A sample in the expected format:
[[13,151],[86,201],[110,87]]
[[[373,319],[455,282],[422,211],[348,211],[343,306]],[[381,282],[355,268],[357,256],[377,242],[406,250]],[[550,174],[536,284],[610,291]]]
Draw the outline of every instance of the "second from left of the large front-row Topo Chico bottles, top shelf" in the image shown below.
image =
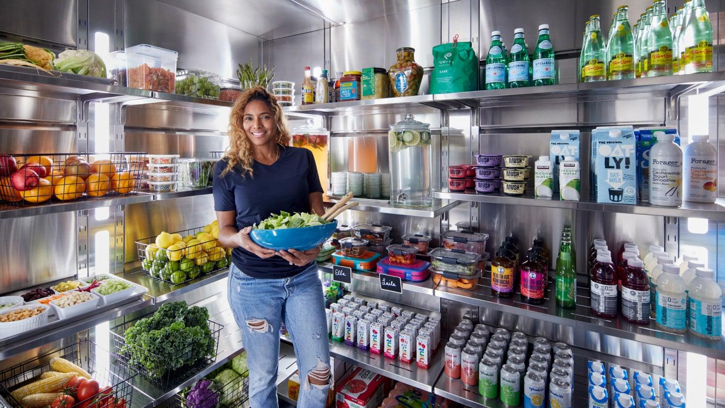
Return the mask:
[[616,24],[610,34],[609,44],[611,51],[607,79],[634,78],[634,39],[629,28],[629,8],[626,6],[617,9]]

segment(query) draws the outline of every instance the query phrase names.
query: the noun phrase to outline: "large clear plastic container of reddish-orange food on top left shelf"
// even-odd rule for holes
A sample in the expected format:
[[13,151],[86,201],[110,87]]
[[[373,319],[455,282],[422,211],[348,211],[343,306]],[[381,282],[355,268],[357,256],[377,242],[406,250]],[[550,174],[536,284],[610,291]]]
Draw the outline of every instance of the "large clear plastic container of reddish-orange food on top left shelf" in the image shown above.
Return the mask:
[[170,49],[148,44],[128,47],[126,49],[128,86],[174,93],[177,59],[178,52]]

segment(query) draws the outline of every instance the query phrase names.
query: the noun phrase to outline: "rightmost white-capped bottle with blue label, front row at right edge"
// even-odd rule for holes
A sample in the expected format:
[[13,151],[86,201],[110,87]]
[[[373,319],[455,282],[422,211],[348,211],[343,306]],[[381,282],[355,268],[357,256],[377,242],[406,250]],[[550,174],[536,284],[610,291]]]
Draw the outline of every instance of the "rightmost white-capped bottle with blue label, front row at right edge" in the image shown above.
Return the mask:
[[697,336],[718,340],[722,332],[723,292],[713,280],[713,270],[698,267],[695,273],[695,279],[688,286],[689,331]]

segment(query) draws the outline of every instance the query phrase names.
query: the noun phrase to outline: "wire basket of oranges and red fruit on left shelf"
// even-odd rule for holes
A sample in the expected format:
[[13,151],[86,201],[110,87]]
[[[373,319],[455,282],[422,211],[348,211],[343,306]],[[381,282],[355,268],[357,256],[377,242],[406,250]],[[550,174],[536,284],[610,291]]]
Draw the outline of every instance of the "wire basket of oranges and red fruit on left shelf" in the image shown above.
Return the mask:
[[15,207],[138,193],[146,153],[0,154],[0,201]]

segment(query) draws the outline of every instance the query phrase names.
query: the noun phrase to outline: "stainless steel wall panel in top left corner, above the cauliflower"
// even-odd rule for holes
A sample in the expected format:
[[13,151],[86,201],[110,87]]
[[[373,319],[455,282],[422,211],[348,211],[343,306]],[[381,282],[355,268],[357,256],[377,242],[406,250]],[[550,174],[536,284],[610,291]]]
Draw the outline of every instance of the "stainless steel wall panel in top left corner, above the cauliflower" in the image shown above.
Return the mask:
[[78,0],[4,0],[0,32],[75,48]]

